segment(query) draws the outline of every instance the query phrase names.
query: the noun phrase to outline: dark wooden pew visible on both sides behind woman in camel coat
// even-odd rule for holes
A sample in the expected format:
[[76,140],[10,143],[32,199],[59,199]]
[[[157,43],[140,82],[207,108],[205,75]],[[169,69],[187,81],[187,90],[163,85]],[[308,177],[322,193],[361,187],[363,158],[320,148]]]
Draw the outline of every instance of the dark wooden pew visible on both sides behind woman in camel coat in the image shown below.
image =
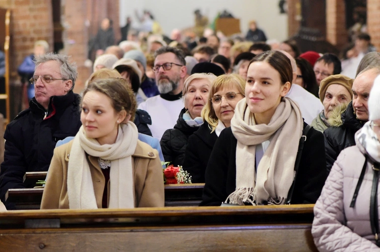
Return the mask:
[[[41,174],[29,173],[25,181],[41,180]],[[36,178],[37,177],[37,178]],[[165,206],[197,206],[202,200],[204,184],[165,185]],[[13,202],[17,210],[40,209],[43,188],[9,189],[5,201]]]

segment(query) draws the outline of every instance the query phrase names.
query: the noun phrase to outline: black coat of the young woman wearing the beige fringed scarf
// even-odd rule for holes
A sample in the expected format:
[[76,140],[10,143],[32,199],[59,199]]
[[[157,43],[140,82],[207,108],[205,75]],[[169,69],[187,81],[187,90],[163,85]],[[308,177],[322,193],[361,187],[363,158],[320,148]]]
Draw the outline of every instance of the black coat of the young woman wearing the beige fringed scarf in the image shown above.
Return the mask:
[[[304,127],[306,125],[304,123]],[[231,128],[224,129],[215,143],[207,165],[201,205],[221,205],[235,191],[236,144],[237,140]],[[306,135],[291,203],[315,203],[326,177],[323,135],[311,128]]]

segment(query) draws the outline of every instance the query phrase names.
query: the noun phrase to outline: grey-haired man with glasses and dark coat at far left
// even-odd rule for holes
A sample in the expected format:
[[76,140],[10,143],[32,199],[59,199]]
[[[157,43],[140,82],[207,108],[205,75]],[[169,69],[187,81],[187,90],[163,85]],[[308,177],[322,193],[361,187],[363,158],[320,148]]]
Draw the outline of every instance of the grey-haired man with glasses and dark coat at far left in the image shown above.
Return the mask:
[[80,97],[73,93],[76,64],[69,57],[47,53],[35,58],[30,82],[34,98],[5,130],[4,161],[0,168],[0,199],[8,189],[25,188],[25,172],[47,171],[58,140],[75,136],[80,128]]

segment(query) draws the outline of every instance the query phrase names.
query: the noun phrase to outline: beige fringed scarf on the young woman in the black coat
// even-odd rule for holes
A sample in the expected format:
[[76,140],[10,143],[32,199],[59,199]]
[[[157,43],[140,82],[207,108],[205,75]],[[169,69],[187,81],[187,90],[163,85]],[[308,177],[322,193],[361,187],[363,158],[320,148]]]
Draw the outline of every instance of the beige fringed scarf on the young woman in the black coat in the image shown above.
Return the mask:
[[[255,124],[245,99],[235,107],[231,130],[236,145],[236,190],[226,203],[283,204],[294,179],[294,165],[302,136],[303,119],[298,105],[283,98],[269,124]],[[255,171],[256,145],[270,140]]]

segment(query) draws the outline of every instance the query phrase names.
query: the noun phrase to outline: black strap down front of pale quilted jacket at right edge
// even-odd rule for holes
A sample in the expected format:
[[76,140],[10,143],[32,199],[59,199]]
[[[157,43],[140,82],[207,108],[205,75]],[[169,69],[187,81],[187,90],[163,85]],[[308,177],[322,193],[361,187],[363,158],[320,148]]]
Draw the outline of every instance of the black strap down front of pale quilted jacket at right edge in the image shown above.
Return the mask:
[[379,240],[379,213],[378,213],[378,179],[379,163],[373,163],[374,179],[372,180],[371,202],[370,202],[370,221],[372,233],[375,235],[376,245],[380,245]]

